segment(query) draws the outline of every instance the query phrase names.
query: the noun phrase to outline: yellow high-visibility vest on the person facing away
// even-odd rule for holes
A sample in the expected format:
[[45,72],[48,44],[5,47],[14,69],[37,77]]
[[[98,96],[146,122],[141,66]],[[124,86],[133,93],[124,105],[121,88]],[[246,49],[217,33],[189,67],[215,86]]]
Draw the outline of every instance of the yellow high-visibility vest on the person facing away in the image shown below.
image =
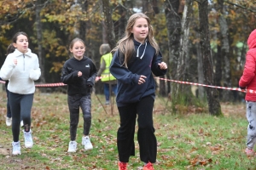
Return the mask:
[[106,64],[105,70],[102,71],[102,82],[107,82],[107,81],[116,80],[116,78],[113,77],[113,75],[112,75],[112,74],[110,73],[110,71],[109,71],[109,66],[110,66],[110,63],[111,63],[111,61],[112,61],[112,58],[113,58],[113,56],[112,56],[111,53],[102,55],[101,64],[102,64],[102,59],[104,59],[105,64]]

